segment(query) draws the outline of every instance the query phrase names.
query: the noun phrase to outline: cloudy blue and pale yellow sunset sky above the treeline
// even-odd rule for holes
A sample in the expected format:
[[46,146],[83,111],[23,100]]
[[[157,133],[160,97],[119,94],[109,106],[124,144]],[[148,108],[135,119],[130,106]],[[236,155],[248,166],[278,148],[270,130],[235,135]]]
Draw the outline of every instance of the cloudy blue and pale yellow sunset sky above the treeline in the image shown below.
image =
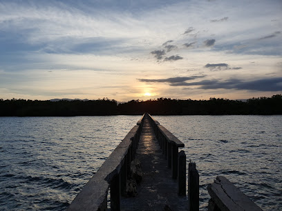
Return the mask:
[[0,99],[281,93],[281,0],[0,0]]

